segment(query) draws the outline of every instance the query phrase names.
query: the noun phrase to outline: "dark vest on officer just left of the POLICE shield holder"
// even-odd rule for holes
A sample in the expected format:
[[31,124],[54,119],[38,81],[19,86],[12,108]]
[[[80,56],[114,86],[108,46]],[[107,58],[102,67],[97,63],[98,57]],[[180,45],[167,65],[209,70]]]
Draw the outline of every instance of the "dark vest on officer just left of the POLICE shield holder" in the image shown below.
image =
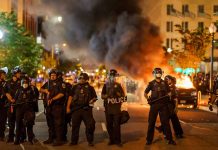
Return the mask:
[[76,85],[74,96],[73,96],[73,105],[88,105],[89,104],[89,94],[90,88],[88,84],[78,84]]

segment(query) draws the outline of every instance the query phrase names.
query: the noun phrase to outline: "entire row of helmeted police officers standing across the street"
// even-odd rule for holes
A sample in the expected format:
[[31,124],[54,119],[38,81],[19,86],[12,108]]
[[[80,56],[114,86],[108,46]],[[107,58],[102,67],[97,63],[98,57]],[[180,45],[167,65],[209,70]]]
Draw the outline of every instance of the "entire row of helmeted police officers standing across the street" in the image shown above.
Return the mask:
[[[13,77],[6,81],[6,71],[0,69],[0,140],[5,138],[5,124],[8,118],[9,135],[7,142],[20,144],[26,140],[33,144],[35,135],[33,125],[35,113],[38,111],[39,91],[30,84],[28,77],[21,78],[21,69],[12,70]],[[175,145],[169,121],[172,121],[175,134],[183,137],[183,130],[176,113],[177,91],[172,76],[161,79],[163,71],[155,68],[154,80],[149,82],[144,95],[150,104],[146,145],[152,144],[157,116],[161,126],[156,127],[163,132],[168,144]],[[101,98],[104,100],[108,145],[122,146],[121,143],[121,105],[125,97],[122,86],[116,82],[117,71],[112,69],[109,79],[104,84]],[[49,72],[49,80],[41,87],[44,93],[45,115],[48,126],[48,139],[44,144],[60,146],[67,142],[67,123],[71,122],[72,135],[70,145],[77,145],[79,129],[83,121],[89,146],[94,146],[95,120],[92,108],[97,101],[95,89],[88,83],[89,76],[81,73],[78,84],[71,86],[62,79],[62,73],[53,69]],[[151,96],[148,93],[151,92]],[[6,104],[6,105],[5,105]],[[16,132],[14,134],[16,126]]]

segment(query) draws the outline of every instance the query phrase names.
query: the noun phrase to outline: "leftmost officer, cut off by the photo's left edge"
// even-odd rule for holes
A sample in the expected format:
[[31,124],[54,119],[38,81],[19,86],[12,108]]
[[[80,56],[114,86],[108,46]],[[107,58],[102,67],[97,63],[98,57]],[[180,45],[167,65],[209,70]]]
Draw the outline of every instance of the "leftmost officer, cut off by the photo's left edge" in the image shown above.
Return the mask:
[[7,101],[7,97],[5,95],[6,88],[6,74],[7,68],[0,69],[0,141],[4,141],[5,139],[5,126],[7,120],[7,108],[5,107],[5,103]]

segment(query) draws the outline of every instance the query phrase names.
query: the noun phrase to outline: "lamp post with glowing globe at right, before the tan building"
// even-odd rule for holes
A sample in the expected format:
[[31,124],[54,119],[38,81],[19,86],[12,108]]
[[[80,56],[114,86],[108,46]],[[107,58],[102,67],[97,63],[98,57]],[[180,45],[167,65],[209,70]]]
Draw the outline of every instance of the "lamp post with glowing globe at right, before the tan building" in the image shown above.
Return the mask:
[[209,27],[209,32],[212,35],[212,46],[211,46],[211,55],[210,55],[210,91],[212,91],[212,84],[213,84],[213,56],[214,56],[214,34],[216,32],[216,26],[211,23]]

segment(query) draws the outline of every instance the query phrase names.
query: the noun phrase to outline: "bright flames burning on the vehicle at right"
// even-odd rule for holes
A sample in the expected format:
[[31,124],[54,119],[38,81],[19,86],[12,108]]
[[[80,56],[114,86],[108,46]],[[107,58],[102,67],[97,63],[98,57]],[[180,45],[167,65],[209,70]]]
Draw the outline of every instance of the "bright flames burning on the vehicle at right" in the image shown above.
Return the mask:
[[183,75],[180,78],[177,78],[176,87],[190,89],[194,88],[194,85],[188,76]]

